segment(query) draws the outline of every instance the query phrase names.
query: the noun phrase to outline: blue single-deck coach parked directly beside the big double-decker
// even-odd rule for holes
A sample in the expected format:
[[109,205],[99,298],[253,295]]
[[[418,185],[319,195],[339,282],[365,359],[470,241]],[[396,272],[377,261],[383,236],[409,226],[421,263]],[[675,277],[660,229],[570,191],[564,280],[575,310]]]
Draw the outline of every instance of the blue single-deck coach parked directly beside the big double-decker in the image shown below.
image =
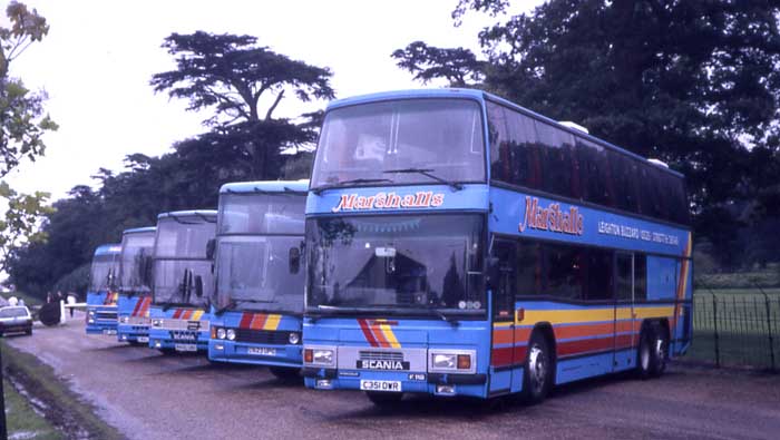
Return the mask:
[[276,180],[221,188],[209,360],[299,375],[308,186]]

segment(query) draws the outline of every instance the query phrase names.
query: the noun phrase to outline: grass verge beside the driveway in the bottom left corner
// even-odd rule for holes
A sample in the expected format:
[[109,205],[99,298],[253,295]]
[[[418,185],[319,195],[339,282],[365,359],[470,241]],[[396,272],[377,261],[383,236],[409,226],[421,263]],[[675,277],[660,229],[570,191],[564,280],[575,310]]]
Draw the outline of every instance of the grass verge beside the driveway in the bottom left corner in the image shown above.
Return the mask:
[[0,341],[3,373],[42,403],[46,420],[67,437],[124,439],[114,427],[96,415],[95,408],[70,391],[49,366],[31,354]]

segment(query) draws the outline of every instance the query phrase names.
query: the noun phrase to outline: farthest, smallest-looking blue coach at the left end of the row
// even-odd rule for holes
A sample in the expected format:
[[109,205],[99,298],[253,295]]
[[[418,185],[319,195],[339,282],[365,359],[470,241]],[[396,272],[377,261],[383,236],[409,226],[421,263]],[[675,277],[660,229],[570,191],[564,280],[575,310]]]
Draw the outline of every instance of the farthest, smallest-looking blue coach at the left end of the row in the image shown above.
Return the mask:
[[95,248],[87,291],[87,334],[116,334],[116,283],[120,251],[119,244],[104,244]]

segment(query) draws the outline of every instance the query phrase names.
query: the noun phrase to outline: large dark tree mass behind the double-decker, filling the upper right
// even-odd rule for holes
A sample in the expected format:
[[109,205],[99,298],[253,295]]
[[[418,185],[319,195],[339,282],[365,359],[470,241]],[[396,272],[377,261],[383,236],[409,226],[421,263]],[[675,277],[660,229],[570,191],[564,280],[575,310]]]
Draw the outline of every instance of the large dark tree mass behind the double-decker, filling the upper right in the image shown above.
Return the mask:
[[721,236],[710,218],[732,205],[760,199],[757,212],[772,209],[780,1],[550,0],[515,16],[508,7],[460,0],[452,12],[456,25],[468,13],[496,17],[478,35],[481,62],[419,41],[392,56],[418,79],[461,86],[455,70],[466,86],[670,163],[686,175],[700,235]]

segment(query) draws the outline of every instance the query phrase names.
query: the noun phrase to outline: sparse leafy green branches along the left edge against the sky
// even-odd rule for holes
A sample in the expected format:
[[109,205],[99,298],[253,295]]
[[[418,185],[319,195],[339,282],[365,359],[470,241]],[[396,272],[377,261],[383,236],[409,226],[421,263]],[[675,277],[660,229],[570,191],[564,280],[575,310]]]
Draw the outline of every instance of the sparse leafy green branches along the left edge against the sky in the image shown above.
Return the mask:
[[[16,1],[8,6],[6,14],[11,27],[0,28],[0,178],[21,160],[35,160],[43,155],[43,134],[57,129],[43,114],[46,94],[31,92],[21,79],[9,76],[11,61],[32,42],[40,41],[49,26],[35,9],[29,10]],[[45,206],[49,194],[18,194],[4,182],[0,182],[0,197],[6,204],[6,214],[0,221],[0,257],[3,258],[0,270],[6,270],[16,248],[46,239],[46,234],[37,228],[41,217],[51,209]]]

